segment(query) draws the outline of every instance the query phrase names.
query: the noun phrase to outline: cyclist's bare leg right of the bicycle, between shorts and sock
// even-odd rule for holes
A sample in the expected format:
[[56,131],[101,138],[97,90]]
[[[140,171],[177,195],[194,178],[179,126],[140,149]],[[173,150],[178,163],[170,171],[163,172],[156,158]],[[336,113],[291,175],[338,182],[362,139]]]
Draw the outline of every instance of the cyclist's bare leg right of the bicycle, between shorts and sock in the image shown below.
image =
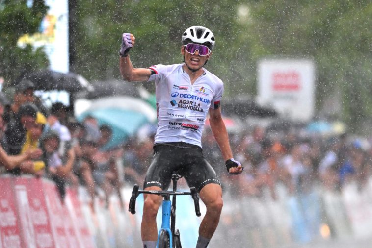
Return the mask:
[[[208,245],[208,242],[212,238],[219,222],[223,206],[222,188],[219,184],[207,184],[201,189],[199,196],[207,208],[207,213],[199,227],[198,239],[199,243],[204,243],[198,244],[199,247],[204,248]],[[197,248],[198,245],[196,246]]]

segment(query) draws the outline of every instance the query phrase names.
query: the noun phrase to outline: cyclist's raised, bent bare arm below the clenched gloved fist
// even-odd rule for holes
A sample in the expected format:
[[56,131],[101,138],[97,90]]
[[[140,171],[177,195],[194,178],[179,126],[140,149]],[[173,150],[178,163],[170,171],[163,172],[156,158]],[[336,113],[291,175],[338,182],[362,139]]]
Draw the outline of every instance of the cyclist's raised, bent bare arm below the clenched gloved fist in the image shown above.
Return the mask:
[[129,56],[120,57],[119,68],[123,79],[129,82],[147,82],[153,73],[147,68],[134,68]]

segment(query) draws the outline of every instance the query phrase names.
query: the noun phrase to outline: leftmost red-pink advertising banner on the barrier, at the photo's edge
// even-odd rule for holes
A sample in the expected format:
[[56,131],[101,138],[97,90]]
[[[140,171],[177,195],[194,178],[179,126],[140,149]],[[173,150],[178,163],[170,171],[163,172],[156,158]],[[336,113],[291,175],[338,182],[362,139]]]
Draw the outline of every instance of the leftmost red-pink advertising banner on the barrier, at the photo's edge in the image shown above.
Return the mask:
[[13,181],[0,177],[0,247],[21,248],[21,228],[17,220]]

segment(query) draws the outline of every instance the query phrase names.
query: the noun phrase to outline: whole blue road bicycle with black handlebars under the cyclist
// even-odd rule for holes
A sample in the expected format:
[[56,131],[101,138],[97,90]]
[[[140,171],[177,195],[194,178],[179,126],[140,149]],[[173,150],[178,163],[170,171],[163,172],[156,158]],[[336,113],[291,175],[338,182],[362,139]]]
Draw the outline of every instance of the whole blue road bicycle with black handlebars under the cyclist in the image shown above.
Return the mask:
[[[135,214],[135,200],[139,194],[153,194],[163,197],[162,201],[162,221],[159,230],[157,248],[182,248],[180,231],[176,228],[176,197],[180,195],[191,195],[194,200],[195,214],[200,216],[199,196],[195,187],[190,187],[190,192],[177,191],[177,181],[182,178],[181,175],[173,174],[173,191],[154,191],[139,190],[137,184],[134,185],[132,197],[129,201],[128,211]],[[170,200],[172,196],[172,201]],[[169,225],[170,223],[170,225]]]

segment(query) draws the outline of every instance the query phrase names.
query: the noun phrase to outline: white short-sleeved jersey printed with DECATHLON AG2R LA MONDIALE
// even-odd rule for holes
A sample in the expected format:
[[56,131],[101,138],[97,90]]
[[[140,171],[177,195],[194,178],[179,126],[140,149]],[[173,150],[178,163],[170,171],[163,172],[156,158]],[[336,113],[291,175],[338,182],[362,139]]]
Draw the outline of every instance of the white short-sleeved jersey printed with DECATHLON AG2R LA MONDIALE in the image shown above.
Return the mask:
[[201,147],[203,127],[210,108],[217,109],[223,93],[223,83],[203,68],[191,85],[183,64],[156,65],[149,78],[156,84],[158,129],[155,143],[186,142]]

